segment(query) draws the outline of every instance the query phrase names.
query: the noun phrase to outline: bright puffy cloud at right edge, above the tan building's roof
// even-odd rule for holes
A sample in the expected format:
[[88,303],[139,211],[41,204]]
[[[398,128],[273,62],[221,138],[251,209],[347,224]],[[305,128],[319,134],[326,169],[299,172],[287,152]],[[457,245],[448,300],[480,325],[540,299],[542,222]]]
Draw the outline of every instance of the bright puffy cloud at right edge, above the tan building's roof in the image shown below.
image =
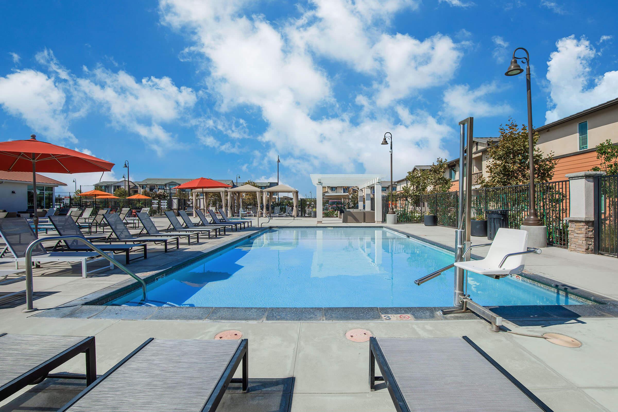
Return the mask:
[[546,123],[570,116],[588,107],[616,98],[618,71],[594,77],[591,62],[596,56],[590,41],[574,35],[556,42],[557,51],[549,56],[549,107]]

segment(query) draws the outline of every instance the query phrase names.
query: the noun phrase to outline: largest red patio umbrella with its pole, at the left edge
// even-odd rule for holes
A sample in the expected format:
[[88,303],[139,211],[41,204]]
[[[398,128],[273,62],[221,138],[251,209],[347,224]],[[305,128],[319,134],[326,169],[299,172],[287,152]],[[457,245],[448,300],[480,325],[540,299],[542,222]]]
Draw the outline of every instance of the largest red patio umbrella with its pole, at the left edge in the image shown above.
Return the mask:
[[95,156],[52,145],[45,141],[38,141],[35,135],[30,135],[28,140],[2,141],[0,143],[0,170],[13,172],[30,172],[32,170],[35,233],[38,233],[36,172],[109,172],[113,166],[113,163],[95,158]]

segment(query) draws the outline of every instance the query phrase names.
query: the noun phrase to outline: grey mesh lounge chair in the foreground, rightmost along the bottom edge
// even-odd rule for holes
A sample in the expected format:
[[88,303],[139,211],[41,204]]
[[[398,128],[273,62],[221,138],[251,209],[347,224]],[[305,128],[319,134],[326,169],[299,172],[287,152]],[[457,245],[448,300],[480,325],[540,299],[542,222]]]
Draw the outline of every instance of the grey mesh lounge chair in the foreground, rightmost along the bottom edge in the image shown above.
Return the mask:
[[[400,412],[551,412],[470,338],[369,338],[369,386]],[[375,363],[382,376],[375,376]]]

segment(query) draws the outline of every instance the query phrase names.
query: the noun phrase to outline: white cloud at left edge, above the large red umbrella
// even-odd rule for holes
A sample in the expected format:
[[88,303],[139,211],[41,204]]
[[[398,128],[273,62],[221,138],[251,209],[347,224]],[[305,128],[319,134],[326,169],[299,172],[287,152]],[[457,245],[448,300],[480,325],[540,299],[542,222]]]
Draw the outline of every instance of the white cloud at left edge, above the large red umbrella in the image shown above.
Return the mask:
[[0,77],[2,108],[22,118],[41,138],[77,141],[69,132],[65,102],[66,95],[54,76],[26,69]]

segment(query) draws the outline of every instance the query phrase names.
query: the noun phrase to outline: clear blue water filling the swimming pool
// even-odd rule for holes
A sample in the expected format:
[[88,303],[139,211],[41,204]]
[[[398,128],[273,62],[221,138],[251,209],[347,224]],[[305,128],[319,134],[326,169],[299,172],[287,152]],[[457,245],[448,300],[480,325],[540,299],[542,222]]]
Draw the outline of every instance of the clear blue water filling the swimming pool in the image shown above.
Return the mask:
[[[423,285],[452,253],[386,229],[272,229],[153,282],[157,305],[240,307],[452,306],[454,271]],[[468,275],[481,305],[577,305],[525,280]],[[112,302],[138,301],[141,292]]]

